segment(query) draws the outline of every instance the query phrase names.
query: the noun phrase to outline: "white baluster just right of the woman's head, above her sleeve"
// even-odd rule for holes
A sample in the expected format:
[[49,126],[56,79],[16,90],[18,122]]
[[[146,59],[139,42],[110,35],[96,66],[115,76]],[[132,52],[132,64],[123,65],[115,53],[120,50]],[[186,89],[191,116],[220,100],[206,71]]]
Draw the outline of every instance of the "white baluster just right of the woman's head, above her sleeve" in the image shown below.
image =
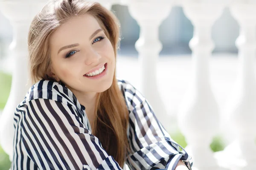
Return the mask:
[[168,121],[166,109],[157,89],[157,62],[162,50],[158,28],[168,16],[171,4],[163,0],[130,0],[127,5],[131,17],[140,26],[140,37],[135,48],[139,52],[141,91],[151,103],[157,118],[165,124]]

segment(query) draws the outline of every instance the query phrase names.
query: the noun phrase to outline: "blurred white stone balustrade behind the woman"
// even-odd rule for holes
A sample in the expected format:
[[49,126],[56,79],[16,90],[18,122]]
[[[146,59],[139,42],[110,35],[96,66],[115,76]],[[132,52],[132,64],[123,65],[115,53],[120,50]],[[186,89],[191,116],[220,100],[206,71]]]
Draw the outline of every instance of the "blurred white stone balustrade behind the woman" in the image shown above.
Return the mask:
[[[10,45],[14,57],[11,93],[0,120],[0,142],[12,159],[13,116],[22,101],[28,83],[26,37],[32,17],[47,0],[0,0],[0,11],[13,26]],[[253,0],[98,0],[110,9],[113,4],[128,6],[131,16],[140,26],[140,38],[135,43],[141,65],[142,93],[151,102],[157,116],[166,115],[157,92],[156,65],[162,44],[158,28],[168,16],[172,6],[182,6],[194,26],[194,36],[189,42],[192,50],[190,87],[178,113],[178,124],[186,138],[186,150],[192,154],[198,170],[256,170],[256,2]],[[225,7],[238,21],[240,34],[236,40],[239,49],[237,81],[233,95],[220,116],[218,104],[209,82],[209,58],[214,49],[211,38],[213,23]],[[0,23],[1,24],[1,23]],[[154,89],[154,91],[152,91]],[[159,115],[160,114],[160,115]],[[227,124],[235,140],[223,151],[212,153],[209,144],[218,133],[220,122]]]

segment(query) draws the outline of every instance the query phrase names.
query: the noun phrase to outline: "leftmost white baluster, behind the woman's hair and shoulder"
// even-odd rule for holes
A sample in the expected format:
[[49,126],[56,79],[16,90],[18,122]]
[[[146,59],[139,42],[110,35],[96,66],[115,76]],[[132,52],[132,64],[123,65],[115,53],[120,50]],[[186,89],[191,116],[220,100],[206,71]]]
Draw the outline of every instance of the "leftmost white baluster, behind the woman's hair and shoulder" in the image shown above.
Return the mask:
[[0,10],[13,26],[12,52],[13,71],[11,92],[0,119],[0,142],[3,150],[12,159],[16,106],[24,99],[29,88],[27,66],[27,34],[34,15],[40,11],[46,0],[0,0]]

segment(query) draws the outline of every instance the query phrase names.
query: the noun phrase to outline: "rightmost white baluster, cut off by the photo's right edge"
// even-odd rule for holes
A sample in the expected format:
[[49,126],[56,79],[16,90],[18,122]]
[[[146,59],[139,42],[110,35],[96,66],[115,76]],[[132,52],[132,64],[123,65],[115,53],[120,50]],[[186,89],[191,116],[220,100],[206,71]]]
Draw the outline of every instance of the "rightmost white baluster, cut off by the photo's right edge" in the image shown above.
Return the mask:
[[239,49],[238,77],[225,113],[228,125],[235,134],[235,140],[228,145],[220,159],[228,158],[226,163],[234,170],[256,169],[256,3],[236,0],[230,11],[240,26],[236,46]]

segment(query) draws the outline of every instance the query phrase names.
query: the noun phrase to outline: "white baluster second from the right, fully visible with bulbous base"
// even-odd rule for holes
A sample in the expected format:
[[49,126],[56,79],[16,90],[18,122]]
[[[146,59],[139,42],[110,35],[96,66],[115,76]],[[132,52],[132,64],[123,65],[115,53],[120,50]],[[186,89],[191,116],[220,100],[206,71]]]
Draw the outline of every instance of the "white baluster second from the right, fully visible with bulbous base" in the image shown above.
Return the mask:
[[182,6],[194,26],[194,36],[189,42],[192,77],[180,104],[178,124],[188,143],[186,149],[192,155],[193,167],[220,170],[209,147],[219,127],[219,108],[209,82],[209,58],[214,49],[211,28],[222,14],[224,3],[184,0]]

